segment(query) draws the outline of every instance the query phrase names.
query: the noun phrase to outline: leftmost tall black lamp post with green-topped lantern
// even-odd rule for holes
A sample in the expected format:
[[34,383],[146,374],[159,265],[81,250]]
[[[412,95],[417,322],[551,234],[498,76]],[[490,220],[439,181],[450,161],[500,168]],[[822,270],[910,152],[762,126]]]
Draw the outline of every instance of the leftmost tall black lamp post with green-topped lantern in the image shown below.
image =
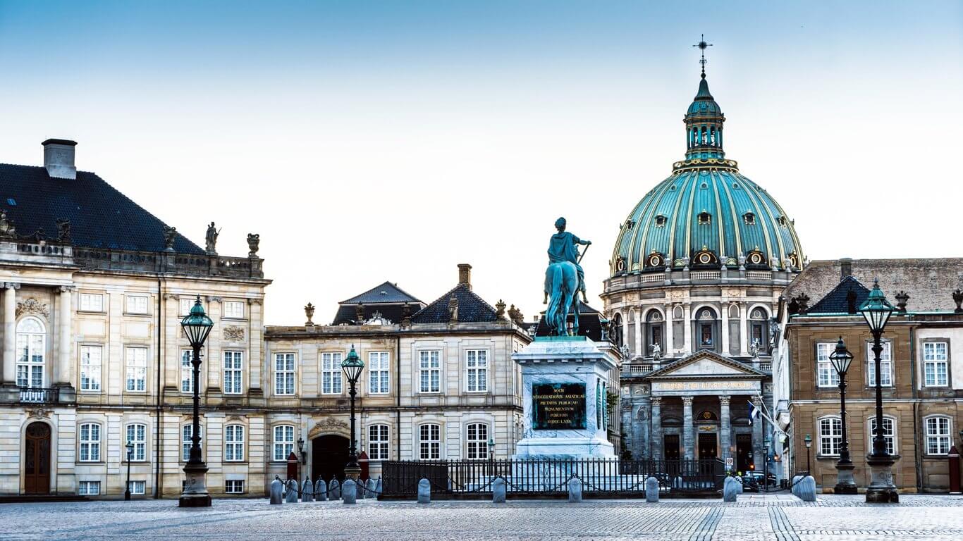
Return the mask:
[[191,364],[194,366],[194,425],[191,432],[191,454],[184,466],[184,474],[187,483],[181,493],[181,507],[210,507],[211,495],[207,493],[207,486],[204,476],[207,474],[207,465],[200,459],[200,348],[204,346],[207,335],[211,333],[214,322],[204,314],[204,307],[200,305],[200,296],[197,296],[191,313],[181,320],[181,328],[187,335],[191,348],[194,348],[194,356]]

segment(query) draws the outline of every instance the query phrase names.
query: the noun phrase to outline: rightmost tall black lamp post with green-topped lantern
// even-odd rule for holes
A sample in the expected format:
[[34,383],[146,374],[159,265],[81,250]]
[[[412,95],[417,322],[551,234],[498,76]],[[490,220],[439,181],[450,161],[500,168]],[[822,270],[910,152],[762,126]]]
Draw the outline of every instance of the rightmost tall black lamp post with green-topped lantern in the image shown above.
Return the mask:
[[876,368],[876,435],[872,438],[872,453],[866,459],[872,472],[872,482],[866,489],[866,502],[871,503],[899,502],[897,486],[893,484],[895,460],[886,451],[886,437],[883,435],[883,378],[879,368],[879,354],[883,352],[880,337],[893,311],[893,305],[886,300],[883,291],[879,289],[879,280],[873,280],[870,296],[859,307],[859,312],[866,320],[866,324],[870,326],[872,333],[873,362]]

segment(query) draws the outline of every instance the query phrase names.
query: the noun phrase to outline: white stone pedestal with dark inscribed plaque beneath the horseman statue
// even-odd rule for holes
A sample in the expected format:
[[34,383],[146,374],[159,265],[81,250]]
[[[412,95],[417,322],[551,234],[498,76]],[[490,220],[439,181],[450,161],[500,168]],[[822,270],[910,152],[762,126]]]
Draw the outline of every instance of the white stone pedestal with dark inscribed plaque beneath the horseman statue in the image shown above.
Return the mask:
[[608,353],[585,336],[538,337],[511,358],[522,368],[525,411],[514,458],[616,458],[606,434]]

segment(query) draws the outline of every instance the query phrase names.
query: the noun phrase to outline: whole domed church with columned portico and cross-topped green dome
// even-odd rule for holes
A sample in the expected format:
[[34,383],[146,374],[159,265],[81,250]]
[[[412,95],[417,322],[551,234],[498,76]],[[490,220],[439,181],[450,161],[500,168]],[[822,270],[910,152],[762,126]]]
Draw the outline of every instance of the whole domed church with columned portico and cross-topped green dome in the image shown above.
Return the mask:
[[771,318],[805,254],[793,219],[726,158],[725,120],[703,65],[685,159],[621,224],[602,298],[628,353],[623,447],[762,470],[749,403],[771,403]]

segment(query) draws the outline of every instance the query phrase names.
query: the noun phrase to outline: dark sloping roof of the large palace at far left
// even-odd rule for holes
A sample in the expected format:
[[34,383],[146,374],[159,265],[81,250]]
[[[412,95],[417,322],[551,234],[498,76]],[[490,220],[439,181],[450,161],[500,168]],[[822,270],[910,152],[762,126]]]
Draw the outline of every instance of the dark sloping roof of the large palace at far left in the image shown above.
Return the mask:
[[[0,164],[0,209],[21,236],[42,228],[56,239],[57,219],[68,219],[75,246],[164,251],[166,224],[88,171],[77,171],[76,179],[51,178],[45,167]],[[204,254],[180,234],[174,250]]]

